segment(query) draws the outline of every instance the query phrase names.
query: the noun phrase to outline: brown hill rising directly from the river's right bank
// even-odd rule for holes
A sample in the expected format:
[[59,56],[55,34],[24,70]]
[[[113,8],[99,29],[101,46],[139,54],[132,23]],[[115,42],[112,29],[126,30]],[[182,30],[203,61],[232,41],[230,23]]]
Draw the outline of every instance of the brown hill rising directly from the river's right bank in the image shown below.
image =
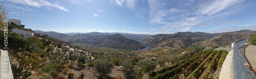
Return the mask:
[[214,34],[204,32],[177,32],[174,34],[157,34],[140,41],[143,44],[156,47],[170,47],[184,49],[191,44],[201,42],[205,39],[214,37]]

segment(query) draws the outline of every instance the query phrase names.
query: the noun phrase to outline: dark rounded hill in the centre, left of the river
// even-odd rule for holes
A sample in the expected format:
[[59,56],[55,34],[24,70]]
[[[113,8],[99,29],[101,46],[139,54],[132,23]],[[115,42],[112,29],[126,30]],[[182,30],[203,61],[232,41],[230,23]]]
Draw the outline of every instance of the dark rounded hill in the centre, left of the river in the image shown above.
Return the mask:
[[124,37],[121,34],[113,35],[91,35],[91,34],[76,34],[66,39],[63,39],[64,42],[69,43],[84,43],[90,45],[106,46],[111,48],[118,49],[142,49],[144,46],[127,37]]

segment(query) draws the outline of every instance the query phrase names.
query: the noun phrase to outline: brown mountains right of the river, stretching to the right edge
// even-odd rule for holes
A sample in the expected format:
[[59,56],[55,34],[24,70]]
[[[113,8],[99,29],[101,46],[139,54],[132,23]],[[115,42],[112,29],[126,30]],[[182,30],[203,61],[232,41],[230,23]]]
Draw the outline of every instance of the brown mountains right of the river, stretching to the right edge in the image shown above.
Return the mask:
[[174,34],[157,34],[140,42],[155,47],[170,47],[184,49],[189,46],[230,46],[232,42],[240,39],[246,39],[247,34],[256,34],[254,30],[240,30],[222,33],[204,33],[204,32],[177,32]]

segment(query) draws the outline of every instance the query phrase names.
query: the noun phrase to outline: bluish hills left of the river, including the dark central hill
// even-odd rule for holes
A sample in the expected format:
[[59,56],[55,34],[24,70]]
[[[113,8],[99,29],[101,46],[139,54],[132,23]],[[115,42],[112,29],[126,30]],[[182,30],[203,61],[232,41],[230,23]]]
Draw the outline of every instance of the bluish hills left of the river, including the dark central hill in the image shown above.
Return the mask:
[[[144,46],[137,42],[142,38],[152,36],[149,34],[130,34],[130,33],[100,33],[100,32],[90,32],[90,33],[58,33],[54,31],[39,31],[35,30],[35,33],[47,34],[60,41],[74,44],[74,43],[84,43],[89,45],[97,45],[118,49],[143,49]],[[72,35],[74,34],[74,35]]]

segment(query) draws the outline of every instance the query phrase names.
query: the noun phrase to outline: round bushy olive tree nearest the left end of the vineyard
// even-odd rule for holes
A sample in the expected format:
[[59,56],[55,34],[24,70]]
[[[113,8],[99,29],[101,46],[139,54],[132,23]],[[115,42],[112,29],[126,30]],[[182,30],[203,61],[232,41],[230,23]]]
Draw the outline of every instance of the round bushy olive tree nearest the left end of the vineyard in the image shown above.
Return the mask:
[[138,62],[139,66],[141,67],[142,71],[150,72],[150,70],[154,70],[156,68],[156,62],[152,61],[148,58],[142,59]]

